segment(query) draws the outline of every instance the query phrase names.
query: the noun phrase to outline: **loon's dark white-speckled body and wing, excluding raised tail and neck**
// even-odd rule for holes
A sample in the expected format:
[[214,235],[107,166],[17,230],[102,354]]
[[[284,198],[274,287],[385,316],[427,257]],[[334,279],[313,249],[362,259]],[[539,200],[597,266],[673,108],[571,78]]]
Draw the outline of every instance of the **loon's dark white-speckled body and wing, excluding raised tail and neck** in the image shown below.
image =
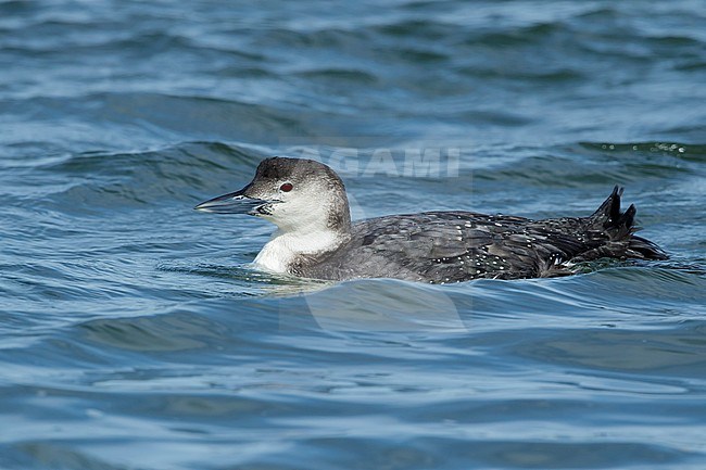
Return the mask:
[[352,241],[316,269],[319,276],[335,279],[374,272],[433,282],[538,277],[549,272],[555,259],[567,258],[581,246],[530,224],[520,217],[466,212],[364,220],[353,226]]

